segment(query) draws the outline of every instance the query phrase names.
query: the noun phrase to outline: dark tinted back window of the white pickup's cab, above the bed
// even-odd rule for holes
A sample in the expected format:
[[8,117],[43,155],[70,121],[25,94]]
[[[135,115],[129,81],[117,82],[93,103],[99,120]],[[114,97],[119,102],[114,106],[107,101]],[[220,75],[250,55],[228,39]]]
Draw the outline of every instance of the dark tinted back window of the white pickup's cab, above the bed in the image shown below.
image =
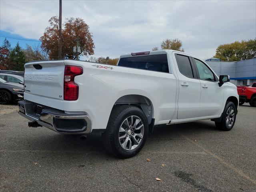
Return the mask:
[[167,54],[120,58],[118,66],[159,72],[169,72]]

